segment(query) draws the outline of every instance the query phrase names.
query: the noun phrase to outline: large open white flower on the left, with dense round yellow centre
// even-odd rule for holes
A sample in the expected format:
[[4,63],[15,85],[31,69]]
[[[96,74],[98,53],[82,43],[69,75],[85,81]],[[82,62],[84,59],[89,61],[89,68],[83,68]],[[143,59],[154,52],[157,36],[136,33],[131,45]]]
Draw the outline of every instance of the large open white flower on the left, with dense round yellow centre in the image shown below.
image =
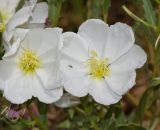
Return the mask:
[[32,96],[44,103],[55,102],[62,96],[59,78],[61,35],[60,28],[28,30],[16,52],[0,61],[4,97],[21,104]]

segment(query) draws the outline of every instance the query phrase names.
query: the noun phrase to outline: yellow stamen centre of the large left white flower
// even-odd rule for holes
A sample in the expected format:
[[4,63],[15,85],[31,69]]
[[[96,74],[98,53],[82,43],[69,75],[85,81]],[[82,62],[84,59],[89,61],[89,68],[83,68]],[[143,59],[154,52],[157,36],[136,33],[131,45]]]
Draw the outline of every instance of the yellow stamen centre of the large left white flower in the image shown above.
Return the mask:
[[19,67],[25,74],[33,74],[40,67],[40,59],[30,50],[24,50],[19,58]]

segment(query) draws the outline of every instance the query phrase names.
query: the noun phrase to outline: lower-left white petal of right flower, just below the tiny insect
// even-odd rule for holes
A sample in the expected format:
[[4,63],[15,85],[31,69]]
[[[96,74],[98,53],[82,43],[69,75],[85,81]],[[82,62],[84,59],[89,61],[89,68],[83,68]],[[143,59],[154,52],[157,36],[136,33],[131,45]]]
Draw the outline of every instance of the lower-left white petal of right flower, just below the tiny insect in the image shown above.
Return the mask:
[[61,62],[61,71],[64,88],[70,94],[78,97],[85,96],[88,93],[90,79],[85,74],[85,68],[81,65],[68,66],[64,62]]

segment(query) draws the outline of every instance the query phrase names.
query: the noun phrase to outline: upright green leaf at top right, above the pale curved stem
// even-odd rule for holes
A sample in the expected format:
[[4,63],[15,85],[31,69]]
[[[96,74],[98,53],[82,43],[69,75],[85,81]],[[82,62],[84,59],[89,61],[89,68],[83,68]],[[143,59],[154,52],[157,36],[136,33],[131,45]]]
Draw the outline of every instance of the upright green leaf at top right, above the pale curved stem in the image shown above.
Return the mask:
[[150,24],[155,26],[156,25],[156,17],[155,17],[155,13],[154,13],[154,10],[153,10],[151,0],[143,0],[143,8],[144,8],[144,13],[145,13],[146,20]]

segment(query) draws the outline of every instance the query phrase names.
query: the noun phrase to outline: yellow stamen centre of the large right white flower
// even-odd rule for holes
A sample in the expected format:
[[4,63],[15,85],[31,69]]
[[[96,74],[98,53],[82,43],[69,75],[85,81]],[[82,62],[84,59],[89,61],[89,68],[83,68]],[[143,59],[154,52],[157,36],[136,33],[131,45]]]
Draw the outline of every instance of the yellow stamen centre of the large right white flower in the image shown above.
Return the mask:
[[90,54],[91,58],[87,61],[87,64],[89,67],[89,74],[92,78],[101,79],[108,76],[110,73],[108,59],[98,58],[96,51],[91,51]]

